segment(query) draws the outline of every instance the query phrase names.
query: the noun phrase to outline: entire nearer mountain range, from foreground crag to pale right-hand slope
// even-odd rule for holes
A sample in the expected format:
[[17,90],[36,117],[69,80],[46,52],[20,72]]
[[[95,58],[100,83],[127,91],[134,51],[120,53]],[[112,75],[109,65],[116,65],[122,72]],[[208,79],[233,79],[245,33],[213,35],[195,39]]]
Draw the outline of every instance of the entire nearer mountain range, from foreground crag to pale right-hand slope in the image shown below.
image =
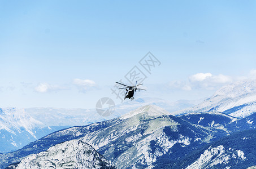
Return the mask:
[[120,117],[55,131],[1,154],[0,168],[253,168],[254,88],[255,81],[237,82],[175,113],[153,103]]

